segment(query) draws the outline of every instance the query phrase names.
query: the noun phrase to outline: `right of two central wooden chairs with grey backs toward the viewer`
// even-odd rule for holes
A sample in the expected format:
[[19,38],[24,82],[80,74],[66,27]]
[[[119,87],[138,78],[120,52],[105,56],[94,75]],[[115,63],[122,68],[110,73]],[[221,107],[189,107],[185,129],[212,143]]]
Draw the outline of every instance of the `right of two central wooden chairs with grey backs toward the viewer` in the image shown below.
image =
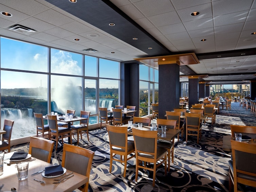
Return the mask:
[[[156,168],[161,164],[165,164],[165,175],[167,174],[166,156],[167,150],[157,146],[157,131],[139,130],[132,128],[135,156],[136,156],[136,171],[135,181],[138,180],[139,168],[153,171],[153,184],[155,186]],[[147,144],[146,144],[147,143]],[[140,164],[143,161],[143,164]],[[159,163],[157,164],[157,162]],[[152,163],[153,168],[147,167],[147,163]]]

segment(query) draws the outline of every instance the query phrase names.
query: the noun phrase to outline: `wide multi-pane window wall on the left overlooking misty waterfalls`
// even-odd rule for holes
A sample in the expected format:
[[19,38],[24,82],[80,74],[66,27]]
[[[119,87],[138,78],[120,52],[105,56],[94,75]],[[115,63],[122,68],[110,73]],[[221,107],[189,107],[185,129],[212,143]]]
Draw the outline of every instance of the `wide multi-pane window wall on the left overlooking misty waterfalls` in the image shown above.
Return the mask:
[[36,134],[33,112],[87,110],[92,124],[98,106],[119,103],[119,62],[4,37],[0,48],[1,122],[14,120],[12,139]]

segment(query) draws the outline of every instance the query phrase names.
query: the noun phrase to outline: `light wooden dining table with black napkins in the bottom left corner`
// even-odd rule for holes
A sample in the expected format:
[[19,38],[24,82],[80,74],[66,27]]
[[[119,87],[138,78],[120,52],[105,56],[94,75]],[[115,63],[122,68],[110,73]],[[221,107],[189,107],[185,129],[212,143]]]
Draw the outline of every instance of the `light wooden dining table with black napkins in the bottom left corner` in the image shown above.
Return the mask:
[[[4,166],[3,175],[0,176],[0,185],[4,184],[1,191],[11,191],[11,188],[16,188],[17,192],[70,192],[88,182],[88,177],[78,173],[72,173],[74,175],[68,179],[63,180],[59,184],[53,184],[53,179],[61,178],[62,176],[71,173],[70,170],[63,168],[66,172],[61,176],[48,176],[44,177],[44,172],[31,176],[31,174],[38,171],[45,170],[46,167],[53,166],[53,164],[41,161],[39,159],[29,157],[20,161],[10,161],[14,152],[4,154]],[[24,180],[18,180],[17,163],[35,159],[29,162],[28,178]],[[8,164],[7,164],[8,163]],[[39,183],[34,179],[45,181]]]

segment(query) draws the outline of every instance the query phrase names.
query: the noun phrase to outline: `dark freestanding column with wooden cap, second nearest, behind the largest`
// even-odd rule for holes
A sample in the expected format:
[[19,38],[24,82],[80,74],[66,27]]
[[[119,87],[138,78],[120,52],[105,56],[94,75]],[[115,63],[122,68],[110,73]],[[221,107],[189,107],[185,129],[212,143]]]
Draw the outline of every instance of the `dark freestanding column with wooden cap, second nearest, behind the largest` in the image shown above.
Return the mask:
[[199,99],[199,79],[198,76],[188,77],[188,108],[195,103],[198,103]]

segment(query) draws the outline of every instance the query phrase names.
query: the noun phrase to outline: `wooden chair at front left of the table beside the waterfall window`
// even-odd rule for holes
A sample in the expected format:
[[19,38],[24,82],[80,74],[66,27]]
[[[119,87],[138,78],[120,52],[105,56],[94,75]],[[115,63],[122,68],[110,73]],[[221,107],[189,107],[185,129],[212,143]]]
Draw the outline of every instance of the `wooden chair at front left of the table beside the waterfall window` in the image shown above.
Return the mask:
[[63,138],[69,137],[72,142],[72,129],[67,127],[58,127],[56,115],[47,115],[47,119],[50,129],[49,139],[56,141],[55,150],[57,150],[59,139],[62,139],[63,143]]

